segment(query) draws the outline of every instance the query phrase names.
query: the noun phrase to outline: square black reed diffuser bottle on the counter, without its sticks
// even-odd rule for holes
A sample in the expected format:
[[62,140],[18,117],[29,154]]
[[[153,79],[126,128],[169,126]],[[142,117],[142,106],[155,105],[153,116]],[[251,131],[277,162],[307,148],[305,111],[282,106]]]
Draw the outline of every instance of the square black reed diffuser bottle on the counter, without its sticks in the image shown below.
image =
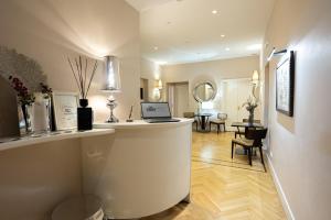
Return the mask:
[[77,125],[78,131],[87,131],[93,129],[93,110],[88,106],[87,99],[79,99],[77,108]]

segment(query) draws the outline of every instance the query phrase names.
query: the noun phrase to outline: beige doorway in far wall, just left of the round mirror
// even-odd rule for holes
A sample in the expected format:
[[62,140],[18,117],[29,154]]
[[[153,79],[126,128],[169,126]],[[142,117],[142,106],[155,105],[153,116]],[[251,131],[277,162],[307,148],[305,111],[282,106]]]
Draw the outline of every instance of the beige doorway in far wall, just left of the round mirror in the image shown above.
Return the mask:
[[189,109],[189,82],[168,84],[168,101],[172,116],[182,118]]

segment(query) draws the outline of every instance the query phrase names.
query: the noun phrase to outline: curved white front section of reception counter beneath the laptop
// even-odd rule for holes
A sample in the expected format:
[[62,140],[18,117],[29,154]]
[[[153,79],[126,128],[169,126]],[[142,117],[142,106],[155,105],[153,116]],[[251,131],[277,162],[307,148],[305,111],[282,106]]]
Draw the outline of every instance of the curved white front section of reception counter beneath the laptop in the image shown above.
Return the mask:
[[95,124],[116,133],[82,143],[84,193],[99,196],[116,219],[154,215],[189,199],[192,122]]

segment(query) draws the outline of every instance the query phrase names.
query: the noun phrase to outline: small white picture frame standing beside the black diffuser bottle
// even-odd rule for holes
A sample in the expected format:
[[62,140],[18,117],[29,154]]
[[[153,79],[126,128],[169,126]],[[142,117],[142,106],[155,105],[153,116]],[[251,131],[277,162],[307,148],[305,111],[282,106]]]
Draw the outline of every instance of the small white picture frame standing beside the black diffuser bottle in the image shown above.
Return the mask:
[[53,91],[54,123],[56,130],[77,129],[77,92]]

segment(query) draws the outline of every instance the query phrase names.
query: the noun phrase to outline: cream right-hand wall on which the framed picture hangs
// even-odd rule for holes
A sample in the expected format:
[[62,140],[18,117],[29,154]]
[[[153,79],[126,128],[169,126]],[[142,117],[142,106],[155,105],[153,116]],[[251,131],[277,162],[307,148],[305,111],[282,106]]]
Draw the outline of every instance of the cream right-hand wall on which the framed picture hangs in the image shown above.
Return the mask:
[[264,64],[273,46],[297,53],[293,118],[276,111],[270,63],[269,157],[298,220],[331,218],[330,12],[329,0],[278,0],[265,38]]

